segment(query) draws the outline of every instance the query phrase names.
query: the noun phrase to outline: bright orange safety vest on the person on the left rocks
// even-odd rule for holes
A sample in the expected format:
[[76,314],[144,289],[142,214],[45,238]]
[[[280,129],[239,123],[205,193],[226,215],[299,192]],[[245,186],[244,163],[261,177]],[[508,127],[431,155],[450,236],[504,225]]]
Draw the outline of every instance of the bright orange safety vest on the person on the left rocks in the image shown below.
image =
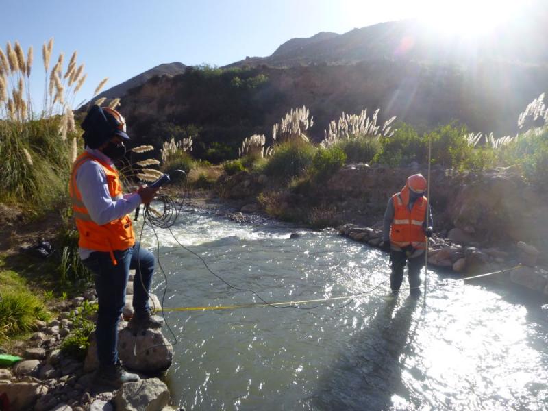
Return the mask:
[[78,156],[73,164],[71,183],[69,186],[76,227],[80,234],[78,245],[82,248],[110,253],[112,263],[116,265],[117,262],[114,258],[114,251],[125,250],[135,244],[132,219],[126,215],[103,225],[99,225],[92,221],[88,209],[82,201],[82,195],[76,185],[76,173],[80,166],[86,161],[95,161],[103,166],[103,171],[105,171],[107,176],[110,197],[114,199],[122,192],[122,186],[116,169],[86,151]]

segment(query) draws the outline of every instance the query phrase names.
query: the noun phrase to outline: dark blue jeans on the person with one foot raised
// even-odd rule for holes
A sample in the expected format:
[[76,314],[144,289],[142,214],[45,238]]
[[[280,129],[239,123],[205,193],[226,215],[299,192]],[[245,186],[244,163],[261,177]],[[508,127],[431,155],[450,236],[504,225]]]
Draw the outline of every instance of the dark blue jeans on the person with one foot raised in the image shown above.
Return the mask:
[[118,323],[125,305],[129,269],[136,270],[133,290],[136,316],[149,310],[148,292],[154,273],[154,256],[150,251],[141,249],[139,242],[129,249],[114,251],[114,258],[117,265],[112,264],[110,253],[95,251],[82,261],[95,274],[95,289],[99,300],[95,338],[101,366],[118,362]]

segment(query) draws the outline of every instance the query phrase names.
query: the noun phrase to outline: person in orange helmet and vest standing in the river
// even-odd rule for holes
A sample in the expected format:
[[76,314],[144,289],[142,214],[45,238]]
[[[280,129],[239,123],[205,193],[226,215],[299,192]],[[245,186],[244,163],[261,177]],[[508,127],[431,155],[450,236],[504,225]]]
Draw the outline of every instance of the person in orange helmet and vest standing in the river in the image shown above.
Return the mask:
[[412,295],[421,293],[421,269],[427,238],[432,236],[432,212],[425,197],[427,182],[421,174],[408,177],[406,185],[390,197],[384,212],[382,248],[390,251],[390,288],[397,293],[408,264]]

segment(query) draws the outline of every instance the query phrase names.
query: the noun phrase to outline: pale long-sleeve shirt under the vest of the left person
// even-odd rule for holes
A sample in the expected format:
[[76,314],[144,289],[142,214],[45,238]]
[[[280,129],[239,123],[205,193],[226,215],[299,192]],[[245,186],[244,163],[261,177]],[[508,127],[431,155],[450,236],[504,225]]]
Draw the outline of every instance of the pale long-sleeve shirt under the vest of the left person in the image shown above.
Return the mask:
[[[112,164],[112,160],[99,150],[86,147],[86,151],[99,160]],[[84,206],[88,210],[94,223],[103,225],[129,214],[141,203],[141,197],[136,192],[132,194],[119,195],[116,198],[110,197],[108,192],[107,176],[103,166],[96,161],[84,162],[76,173],[76,186],[82,195]],[[80,258],[85,260],[93,251],[80,247],[78,249]]]

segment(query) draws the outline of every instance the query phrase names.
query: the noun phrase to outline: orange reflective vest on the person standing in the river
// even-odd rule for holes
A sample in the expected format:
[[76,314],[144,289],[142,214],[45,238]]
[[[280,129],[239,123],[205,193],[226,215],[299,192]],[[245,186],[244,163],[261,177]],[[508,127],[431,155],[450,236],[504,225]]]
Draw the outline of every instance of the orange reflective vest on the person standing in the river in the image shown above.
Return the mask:
[[[412,245],[415,249],[425,249],[426,236],[423,224],[428,199],[425,196],[419,197],[409,210],[409,193],[406,190],[409,188],[404,187],[401,192],[392,196],[394,219],[390,225],[390,243],[398,247]],[[402,197],[406,201],[403,201]]]

